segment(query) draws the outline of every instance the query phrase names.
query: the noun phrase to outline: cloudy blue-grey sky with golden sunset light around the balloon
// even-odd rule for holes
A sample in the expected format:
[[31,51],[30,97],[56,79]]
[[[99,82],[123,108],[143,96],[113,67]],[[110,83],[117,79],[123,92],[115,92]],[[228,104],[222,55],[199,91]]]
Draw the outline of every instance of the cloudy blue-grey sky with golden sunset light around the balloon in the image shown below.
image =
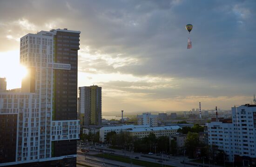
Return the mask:
[[255,0],[1,0],[0,77],[20,87],[22,36],[67,28],[81,31],[78,86],[102,87],[103,115],[230,109],[256,93],[255,18]]

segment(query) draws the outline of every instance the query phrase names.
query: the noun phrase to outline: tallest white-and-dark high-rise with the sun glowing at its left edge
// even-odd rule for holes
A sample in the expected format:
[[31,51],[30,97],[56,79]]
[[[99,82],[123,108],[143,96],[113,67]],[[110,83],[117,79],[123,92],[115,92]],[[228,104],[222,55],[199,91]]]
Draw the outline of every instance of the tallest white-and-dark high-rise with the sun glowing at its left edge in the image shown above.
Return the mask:
[[57,29],[20,39],[28,75],[21,92],[0,93],[0,166],[76,166],[79,37]]

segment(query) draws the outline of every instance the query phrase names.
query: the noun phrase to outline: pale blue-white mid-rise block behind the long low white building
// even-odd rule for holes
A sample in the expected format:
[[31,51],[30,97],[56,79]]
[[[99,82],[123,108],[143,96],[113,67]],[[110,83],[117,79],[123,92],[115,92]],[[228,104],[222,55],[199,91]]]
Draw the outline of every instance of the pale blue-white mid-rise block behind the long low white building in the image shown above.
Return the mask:
[[149,125],[150,127],[157,127],[158,125],[158,116],[151,115],[151,113],[142,113],[138,115],[138,125]]

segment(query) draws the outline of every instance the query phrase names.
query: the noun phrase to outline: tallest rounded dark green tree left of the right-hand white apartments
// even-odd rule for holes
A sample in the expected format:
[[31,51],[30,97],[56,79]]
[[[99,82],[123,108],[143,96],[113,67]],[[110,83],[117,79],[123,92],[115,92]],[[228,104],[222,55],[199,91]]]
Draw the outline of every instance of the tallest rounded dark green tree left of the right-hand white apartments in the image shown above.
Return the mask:
[[199,136],[197,133],[189,132],[187,135],[187,139],[185,141],[186,152],[189,157],[194,158],[194,152],[196,148],[199,146]]

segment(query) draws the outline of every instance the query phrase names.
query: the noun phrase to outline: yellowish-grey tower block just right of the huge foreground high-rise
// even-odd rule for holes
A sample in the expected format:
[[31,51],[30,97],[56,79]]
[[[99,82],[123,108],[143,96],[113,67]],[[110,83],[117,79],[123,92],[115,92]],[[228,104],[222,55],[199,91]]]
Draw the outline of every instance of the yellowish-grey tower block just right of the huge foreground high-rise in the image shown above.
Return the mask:
[[83,119],[82,125],[101,124],[101,87],[79,87],[79,114]]

